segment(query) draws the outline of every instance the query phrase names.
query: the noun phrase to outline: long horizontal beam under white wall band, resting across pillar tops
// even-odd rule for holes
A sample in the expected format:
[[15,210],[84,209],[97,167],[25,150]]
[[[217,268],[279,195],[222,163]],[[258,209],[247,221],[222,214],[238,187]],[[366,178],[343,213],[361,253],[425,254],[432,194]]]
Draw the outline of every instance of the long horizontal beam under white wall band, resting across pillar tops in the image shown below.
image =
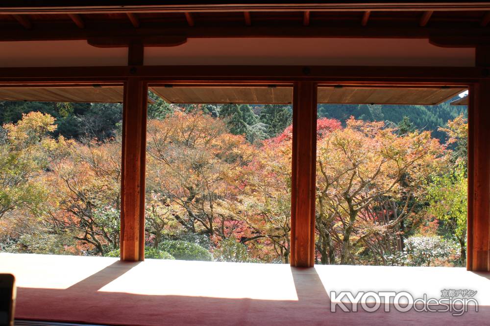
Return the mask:
[[[53,81],[124,81],[141,77],[165,81],[224,81],[267,84],[293,81],[357,82],[352,85],[379,83],[390,85],[456,85],[465,86],[489,79],[486,67],[450,66],[355,66],[313,65],[154,65],[136,71],[128,66],[91,67],[5,67],[0,68],[0,82],[16,84],[51,83]],[[376,84],[379,82],[378,84]]]

